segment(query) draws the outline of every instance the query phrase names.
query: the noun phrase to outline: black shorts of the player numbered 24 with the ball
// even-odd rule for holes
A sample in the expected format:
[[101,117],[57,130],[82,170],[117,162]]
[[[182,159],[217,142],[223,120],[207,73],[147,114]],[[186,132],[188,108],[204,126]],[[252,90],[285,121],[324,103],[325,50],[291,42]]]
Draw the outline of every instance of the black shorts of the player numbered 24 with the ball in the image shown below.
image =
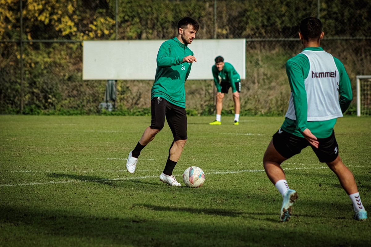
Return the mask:
[[187,140],[187,114],[185,109],[171,104],[161,97],[151,100],[151,126],[155,130],[162,130],[166,121],[173,133],[174,141]]

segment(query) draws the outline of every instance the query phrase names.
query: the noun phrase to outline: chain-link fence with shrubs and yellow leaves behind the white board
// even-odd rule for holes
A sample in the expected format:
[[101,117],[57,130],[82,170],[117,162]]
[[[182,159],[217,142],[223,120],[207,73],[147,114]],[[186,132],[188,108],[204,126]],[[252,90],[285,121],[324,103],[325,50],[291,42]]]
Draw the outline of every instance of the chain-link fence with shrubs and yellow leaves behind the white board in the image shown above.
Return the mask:
[[[322,47],[344,63],[354,95],[355,77],[371,74],[368,0],[0,0],[0,5],[2,114],[100,112],[106,81],[82,80],[83,41],[171,39],[184,16],[199,22],[197,39],[246,39],[242,115],[285,112],[290,92],[285,63],[302,50],[298,26],[308,16],[322,20]],[[152,83],[117,81],[114,112],[150,113]],[[213,81],[185,85],[189,114],[214,113]],[[224,114],[232,113],[232,100],[224,104]]]

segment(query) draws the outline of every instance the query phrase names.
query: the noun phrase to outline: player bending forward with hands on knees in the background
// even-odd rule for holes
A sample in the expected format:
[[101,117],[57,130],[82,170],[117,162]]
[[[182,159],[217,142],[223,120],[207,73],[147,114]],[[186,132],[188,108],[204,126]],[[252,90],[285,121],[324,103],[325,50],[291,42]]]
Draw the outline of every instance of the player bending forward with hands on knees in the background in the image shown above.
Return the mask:
[[[234,101],[234,125],[238,125],[240,118],[240,91],[241,81],[240,75],[230,63],[224,63],[224,58],[218,56],[215,58],[215,65],[211,68],[214,77],[214,83],[217,89],[216,94],[216,120],[210,125],[221,124],[221,109],[223,109],[224,94],[228,93],[232,87],[233,101]],[[221,81],[219,82],[219,77]]]

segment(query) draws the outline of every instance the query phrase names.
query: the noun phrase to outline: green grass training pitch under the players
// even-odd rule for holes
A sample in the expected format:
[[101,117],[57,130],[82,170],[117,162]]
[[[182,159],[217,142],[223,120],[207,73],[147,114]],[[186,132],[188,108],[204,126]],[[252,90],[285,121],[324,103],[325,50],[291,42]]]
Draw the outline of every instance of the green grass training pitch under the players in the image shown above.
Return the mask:
[[[371,246],[371,218],[352,204],[311,148],[283,163],[298,192],[293,215],[279,222],[282,197],[262,157],[283,117],[188,117],[188,142],[174,175],[159,181],[171,131],[142,151],[134,174],[129,151],[150,117],[0,116],[0,246]],[[340,155],[371,215],[371,119],[335,126]],[[184,186],[189,166],[206,173]]]

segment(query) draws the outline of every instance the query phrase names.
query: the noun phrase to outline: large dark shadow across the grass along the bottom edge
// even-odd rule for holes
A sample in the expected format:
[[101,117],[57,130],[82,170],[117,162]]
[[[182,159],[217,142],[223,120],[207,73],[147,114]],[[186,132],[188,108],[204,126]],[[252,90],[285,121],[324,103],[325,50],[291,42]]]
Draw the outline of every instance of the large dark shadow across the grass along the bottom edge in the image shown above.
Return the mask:
[[[144,207],[156,211],[191,208]],[[143,210],[143,208],[141,208]],[[292,224],[261,223],[259,219],[231,220],[239,212],[205,209],[203,223],[180,214],[139,211],[79,211],[76,208],[0,206],[3,246],[370,246],[370,238],[338,234],[332,226],[319,231]],[[214,213],[226,217],[216,218]],[[206,218],[205,218],[206,217]],[[238,219],[237,217],[236,219]],[[303,233],[303,230],[306,230]],[[345,228],[346,229],[346,228]],[[329,231],[337,234],[329,234]],[[344,230],[344,229],[343,229]],[[290,234],[290,237],[283,238]],[[364,236],[365,234],[363,234]],[[194,236],[194,237],[190,237]],[[201,239],[201,240],[200,240]]]

